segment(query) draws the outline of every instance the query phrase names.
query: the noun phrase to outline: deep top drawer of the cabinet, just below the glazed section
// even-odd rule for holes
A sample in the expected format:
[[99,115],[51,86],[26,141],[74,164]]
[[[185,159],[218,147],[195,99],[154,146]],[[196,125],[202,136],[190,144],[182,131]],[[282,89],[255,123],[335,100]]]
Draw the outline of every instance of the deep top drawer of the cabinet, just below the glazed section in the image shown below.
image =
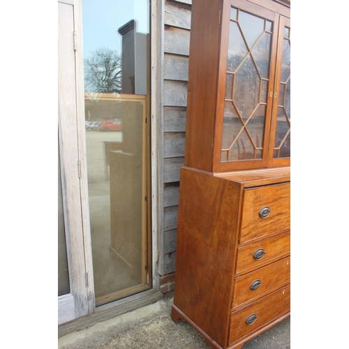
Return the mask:
[[244,189],[240,243],[290,228],[290,183]]

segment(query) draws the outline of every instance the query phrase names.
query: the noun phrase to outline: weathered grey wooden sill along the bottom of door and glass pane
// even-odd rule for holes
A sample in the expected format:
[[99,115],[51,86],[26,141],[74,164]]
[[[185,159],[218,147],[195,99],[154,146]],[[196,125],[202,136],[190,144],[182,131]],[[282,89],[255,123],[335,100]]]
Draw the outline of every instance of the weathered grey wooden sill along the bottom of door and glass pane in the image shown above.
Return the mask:
[[128,313],[128,311],[133,311],[142,306],[157,302],[160,299],[163,299],[163,293],[155,289],[151,289],[140,292],[137,295],[119,299],[110,304],[98,306],[93,314],[86,315],[82,318],[59,325],[58,337],[87,328],[96,324],[97,322],[114,318],[117,315]]

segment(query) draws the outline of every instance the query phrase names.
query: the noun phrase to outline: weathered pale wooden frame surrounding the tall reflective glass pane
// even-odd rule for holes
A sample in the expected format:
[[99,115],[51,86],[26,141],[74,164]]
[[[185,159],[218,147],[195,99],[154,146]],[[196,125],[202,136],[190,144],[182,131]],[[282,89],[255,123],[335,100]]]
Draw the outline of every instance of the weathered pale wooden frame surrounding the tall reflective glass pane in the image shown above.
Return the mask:
[[[149,131],[149,163],[150,163],[150,181],[149,183],[149,194],[151,205],[149,216],[148,228],[151,233],[151,241],[148,242],[151,247],[151,270],[149,270],[149,276],[152,281],[152,288],[144,291],[141,294],[133,295],[127,299],[119,299],[110,304],[104,306],[95,306],[95,295],[94,295],[94,273],[92,265],[92,249],[91,249],[91,227],[89,222],[89,193],[88,193],[88,181],[87,181],[87,154],[86,154],[86,140],[84,137],[85,125],[84,125],[84,72],[83,72],[83,51],[82,51],[82,0],[60,0],[59,3],[70,4],[74,8],[74,36],[75,36],[75,82],[76,82],[76,110],[77,110],[77,149],[78,159],[77,162],[80,168],[80,207],[81,207],[81,224],[82,224],[82,235],[81,243],[83,246],[84,256],[82,258],[84,262],[84,286],[86,288],[86,308],[84,313],[77,313],[75,311],[75,319],[83,317],[84,315],[98,316],[103,320],[110,318],[119,313],[136,309],[139,306],[144,306],[151,302],[161,299],[162,294],[159,292],[160,289],[160,274],[158,274],[159,265],[159,254],[161,251],[160,242],[160,230],[161,230],[161,214],[160,210],[162,207],[162,170],[163,159],[161,158],[161,144],[158,144],[158,140],[161,140],[162,126],[161,117],[162,109],[161,103],[158,101],[161,98],[161,91],[163,82],[161,80],[162,75],[158,74],[162,69],[163,62],[163,1],[151,1],[151,13],[150,13],[150,114],[147,127]],[[74,162],[74,160],[73,160]],[[75,162],[76,163],[76,162]],[[67,242],[69,244],[69,242]],[[80,251],[81,252],[81,251]],[[74,251],[70,250],[70,257],[75,258]],[[150,267],[149,265],[149,267]],[[59,302],[62,309],[70,306],[71,309],[71,297],[61,296]],[[117,308],[118,307],[118,308]],[[116,309],[117,308],[117,309]],[[114,310],[113,310],[114,309]],[[71,310],[70,310],[71,313]],[[99,315],[98,315],[99,314]],[[84,328],[89,324],[87,318],[81,321],[73,323],[62,323],[59,326],[59,335],[71,332],[74,329]],[[91,319],[91,322],[96,320]]]

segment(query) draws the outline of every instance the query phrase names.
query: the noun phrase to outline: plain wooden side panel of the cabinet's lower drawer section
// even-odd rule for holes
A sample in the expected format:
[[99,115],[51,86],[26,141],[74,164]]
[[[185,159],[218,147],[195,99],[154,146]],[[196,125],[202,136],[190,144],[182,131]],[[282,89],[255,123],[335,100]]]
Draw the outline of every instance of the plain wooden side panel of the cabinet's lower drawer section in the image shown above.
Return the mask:
[[174,305],[225,348],[240,191],[181,168]]

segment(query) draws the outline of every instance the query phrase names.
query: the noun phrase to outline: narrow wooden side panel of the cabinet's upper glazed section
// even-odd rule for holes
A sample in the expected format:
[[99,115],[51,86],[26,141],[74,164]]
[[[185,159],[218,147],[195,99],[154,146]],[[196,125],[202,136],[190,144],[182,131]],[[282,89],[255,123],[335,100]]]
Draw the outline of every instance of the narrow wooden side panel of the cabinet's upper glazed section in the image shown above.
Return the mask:
[[219,0],[196,0],[191,12],[185,165],[206,171],[212,165],[220,10]]

